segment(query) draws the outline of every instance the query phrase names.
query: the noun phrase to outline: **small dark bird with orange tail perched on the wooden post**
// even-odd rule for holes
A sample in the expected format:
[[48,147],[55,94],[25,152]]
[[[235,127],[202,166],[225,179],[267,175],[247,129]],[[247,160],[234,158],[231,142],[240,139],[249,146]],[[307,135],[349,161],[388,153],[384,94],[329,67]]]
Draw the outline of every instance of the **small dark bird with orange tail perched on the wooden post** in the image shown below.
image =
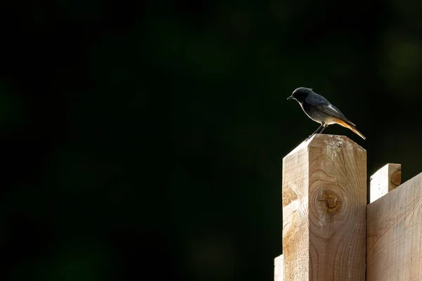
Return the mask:
[[347,129],[352,130],[354,133],[357,133],[358,136],[366,139],[361,132],[357,131],[356,125],[350,122],[349,119],[343,115],[337,107],[332,105],[326,98],[323,96],[314,93],[310,88],[300,87],[293,91],[292,95],[287,98],[288,100],[296,100],[305,114],[314,122],[321,124],[321,126],[312,133],[311,136],[306,138],[307,141],[309,138],[314,136],[319,130],[319,133],[322,133],[328,125],[339,124]]

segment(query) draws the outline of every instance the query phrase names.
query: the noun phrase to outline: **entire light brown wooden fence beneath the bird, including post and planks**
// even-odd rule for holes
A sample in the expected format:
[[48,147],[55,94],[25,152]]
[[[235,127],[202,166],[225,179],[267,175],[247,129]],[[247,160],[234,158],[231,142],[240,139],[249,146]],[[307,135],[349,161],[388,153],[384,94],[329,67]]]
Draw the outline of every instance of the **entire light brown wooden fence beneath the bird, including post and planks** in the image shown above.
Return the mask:
[[371,176],[366,150],[316,134],[283,158],[283,254],[275,281],[422,280],[422,174],[401,166]]

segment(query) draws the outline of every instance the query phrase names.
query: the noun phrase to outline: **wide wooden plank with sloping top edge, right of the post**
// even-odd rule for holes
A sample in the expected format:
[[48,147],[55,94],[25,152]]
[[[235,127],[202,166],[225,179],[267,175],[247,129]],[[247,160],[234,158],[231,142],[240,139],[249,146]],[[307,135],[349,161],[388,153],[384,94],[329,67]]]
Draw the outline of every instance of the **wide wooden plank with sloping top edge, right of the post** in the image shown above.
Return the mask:
[[366,209],[366,280],[422,280],[422,173]]

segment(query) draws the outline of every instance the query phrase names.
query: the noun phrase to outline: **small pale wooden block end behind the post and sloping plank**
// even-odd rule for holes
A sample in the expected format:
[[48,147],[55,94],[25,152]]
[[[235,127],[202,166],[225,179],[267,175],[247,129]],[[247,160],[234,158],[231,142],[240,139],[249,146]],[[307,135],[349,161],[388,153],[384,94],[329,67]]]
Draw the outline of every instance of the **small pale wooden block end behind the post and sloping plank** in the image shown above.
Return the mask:
[[369,202],[374,202],[391,190],[397,188],[402,181],[402,164],[388,163],[371,176]]

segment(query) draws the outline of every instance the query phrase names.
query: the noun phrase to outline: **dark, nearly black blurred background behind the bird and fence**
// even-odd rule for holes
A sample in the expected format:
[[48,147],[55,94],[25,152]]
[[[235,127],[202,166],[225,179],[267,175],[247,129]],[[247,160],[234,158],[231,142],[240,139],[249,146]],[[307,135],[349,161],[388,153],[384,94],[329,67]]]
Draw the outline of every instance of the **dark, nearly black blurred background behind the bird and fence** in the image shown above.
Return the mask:
[[2,280],[272,280],[321,93],[422,171],[422,4],[2,2]]

